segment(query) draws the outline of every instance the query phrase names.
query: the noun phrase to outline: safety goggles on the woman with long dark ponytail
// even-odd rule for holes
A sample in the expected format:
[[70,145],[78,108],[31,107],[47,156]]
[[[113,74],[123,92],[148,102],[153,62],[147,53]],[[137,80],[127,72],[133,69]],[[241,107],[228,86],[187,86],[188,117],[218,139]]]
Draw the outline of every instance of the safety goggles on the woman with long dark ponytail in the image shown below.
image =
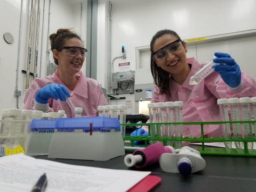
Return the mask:
[[174,42],[171,42],[170,44],[160,48],[156,52],[153,53],[153,56],[156,61],[160,61],[166,58],[167,51],[170,51],[171,53],[178,52],[182,47],[182,42],[180,39],[177,39]]

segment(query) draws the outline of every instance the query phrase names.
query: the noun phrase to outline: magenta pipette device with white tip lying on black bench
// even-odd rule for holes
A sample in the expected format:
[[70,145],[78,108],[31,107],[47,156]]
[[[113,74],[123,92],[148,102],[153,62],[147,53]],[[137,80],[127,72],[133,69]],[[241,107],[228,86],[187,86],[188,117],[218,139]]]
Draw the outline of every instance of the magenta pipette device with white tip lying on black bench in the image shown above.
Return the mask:
[[147,148],[138,149],[132,154],[126,155],[124,157],[124,163],[128,167],[135,166],[136,168],[143,168],[158,163],[163,153],[175,153],[175,149],[172,146],[164,146],[162,142],[158,142]]

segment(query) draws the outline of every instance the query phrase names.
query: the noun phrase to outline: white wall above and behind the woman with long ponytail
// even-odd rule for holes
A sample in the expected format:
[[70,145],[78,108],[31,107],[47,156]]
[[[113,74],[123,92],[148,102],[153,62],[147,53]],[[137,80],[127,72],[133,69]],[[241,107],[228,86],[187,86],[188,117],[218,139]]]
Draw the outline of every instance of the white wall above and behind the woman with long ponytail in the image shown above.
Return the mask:
[[[103,2],[102,0],[102,4]],[[109,1],[105,2],[108,8]],[[256,29],[255,0],[112,0],[110,2],[112,3],[111,58],[121,56],[122,46],[126,54],[126,59],[115,60],[114,72],[118,71],[118,63],[122,62],[130,62],[130,70],[135,70],[136,47],[148,46],[152,36],[164,28],[176,31],[182,39]],[[106,11],[105,16],[98,20],[106,20],[107,13]],[[108,31],[103,32],[102,29],[103,27],[98,28],[98,34],[107,36]],[[106,63],[98,62],[98,68],[103,65]],[[104,80],[106,81],[106,77]],[[132,100],[132,109],[128,113],[134,113],[134,95],[119,96]],[[111,100],[110,104],[125,104],[125,100]]]

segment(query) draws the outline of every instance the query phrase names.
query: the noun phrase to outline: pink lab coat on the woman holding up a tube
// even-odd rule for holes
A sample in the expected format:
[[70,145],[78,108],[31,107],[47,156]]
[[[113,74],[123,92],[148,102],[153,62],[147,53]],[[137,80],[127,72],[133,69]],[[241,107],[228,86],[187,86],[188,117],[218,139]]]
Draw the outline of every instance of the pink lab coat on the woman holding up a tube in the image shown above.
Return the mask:
[[[230,91],[217,72],[212,72],[196,85],[190,85],[190,77],[206,62],[199,63],[194,58],[187,58],[187,63],[192,64],[192,67],[185,82],[180,85],[170,76],[170,96],[159,94],[160,89],[155,86],[151,99],[153,103],[183,101],[183,122],[220,121],[217,99],[256,96],[256,82],[244,72],[242,72],[244,88],[239,92]],[[142,128],[148,132],[148,126],[142,126]],[[183,125],[182,134],[188,137],[201,137],[200,125]],[[206,137],[222,136],[221,127],[219,125],[204,125],[204,135]]]

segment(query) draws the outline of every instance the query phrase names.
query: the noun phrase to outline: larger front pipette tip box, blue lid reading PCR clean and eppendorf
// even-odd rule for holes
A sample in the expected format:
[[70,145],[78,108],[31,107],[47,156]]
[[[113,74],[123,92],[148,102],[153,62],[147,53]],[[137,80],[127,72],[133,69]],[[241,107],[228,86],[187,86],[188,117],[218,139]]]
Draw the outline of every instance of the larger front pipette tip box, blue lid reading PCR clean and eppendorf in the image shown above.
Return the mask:
[[118,118],[58,118],[48,158],[106,161],[124,154]]

